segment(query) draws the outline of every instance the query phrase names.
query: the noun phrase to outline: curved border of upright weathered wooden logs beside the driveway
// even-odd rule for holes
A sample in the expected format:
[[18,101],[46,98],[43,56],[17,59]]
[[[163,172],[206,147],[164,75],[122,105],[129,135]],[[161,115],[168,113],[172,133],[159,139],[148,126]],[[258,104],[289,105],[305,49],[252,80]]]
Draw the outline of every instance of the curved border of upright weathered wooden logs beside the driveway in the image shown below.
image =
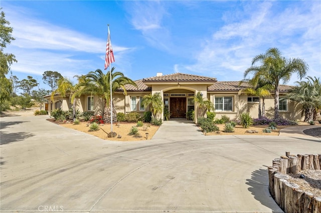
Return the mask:
[[287,212],[321,212],[321,196],[303,191],[299,185],[288,182],[288,173],[321,168],[321,154],[297,154],[285,152],[285,156],[275,158],[268,167],[269,191],[275,202]]

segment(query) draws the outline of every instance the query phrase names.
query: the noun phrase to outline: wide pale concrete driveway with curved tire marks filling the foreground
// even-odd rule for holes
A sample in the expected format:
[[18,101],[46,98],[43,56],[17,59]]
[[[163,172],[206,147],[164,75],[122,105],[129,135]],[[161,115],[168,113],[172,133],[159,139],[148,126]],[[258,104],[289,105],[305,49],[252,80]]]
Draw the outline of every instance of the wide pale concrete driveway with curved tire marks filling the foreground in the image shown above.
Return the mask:
[[114,142],[47,117],[1,118],[2,212],[282,212],[267,166],[321,151],[314,137],[204,136],[180,121]]

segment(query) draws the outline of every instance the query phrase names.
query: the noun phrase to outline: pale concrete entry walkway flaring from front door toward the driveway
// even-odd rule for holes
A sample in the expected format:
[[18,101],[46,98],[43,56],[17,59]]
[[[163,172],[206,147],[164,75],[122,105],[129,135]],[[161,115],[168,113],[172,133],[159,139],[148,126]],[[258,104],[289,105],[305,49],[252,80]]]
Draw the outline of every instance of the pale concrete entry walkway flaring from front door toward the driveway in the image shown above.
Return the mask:
[[152,139],[191,139],[192,137],[205,136],[196,124],[185,118],[172,118],[165,120],[154,134]]

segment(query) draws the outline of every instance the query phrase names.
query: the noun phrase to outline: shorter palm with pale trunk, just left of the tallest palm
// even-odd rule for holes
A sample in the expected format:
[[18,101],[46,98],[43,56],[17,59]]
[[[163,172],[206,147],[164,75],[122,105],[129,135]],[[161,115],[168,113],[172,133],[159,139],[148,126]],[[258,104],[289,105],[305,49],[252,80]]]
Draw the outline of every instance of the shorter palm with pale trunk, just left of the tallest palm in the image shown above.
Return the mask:
[[[241,89],[239,93],[244,93],[248,95],[255,95],[259,97],[259,113],[258,117],[261,118],[262,116],[265,116],[265,97],[269,96],[271,94],[270,92],[270,84],[268,84],[265,80],[263,80],[262,77],[259,77],[258,79],[252,78],[252,79],[243,79],[240,81],[239,85],[241,85],[243,82],[247,82],[250,84],[250,87]],[[262,101],[261,101],[262,99]]]

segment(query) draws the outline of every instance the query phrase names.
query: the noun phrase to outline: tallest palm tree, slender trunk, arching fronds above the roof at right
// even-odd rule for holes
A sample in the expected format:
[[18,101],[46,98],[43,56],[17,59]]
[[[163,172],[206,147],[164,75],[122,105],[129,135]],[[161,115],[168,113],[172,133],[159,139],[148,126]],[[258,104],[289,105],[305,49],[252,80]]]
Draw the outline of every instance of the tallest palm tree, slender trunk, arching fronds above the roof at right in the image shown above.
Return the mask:
[[[260,65],[255,65],[257,62]],[[279,84],[286,83],[292,73],[297,73],[299,79],[305,76],[308,65],[300,58],[286,59],[277,48],[269,48],[264,54],[252,59],[252,66],[245,70],[244,78],[253,73],[253,78],[264,76],[274,87],[274,117],[279,117]]]

